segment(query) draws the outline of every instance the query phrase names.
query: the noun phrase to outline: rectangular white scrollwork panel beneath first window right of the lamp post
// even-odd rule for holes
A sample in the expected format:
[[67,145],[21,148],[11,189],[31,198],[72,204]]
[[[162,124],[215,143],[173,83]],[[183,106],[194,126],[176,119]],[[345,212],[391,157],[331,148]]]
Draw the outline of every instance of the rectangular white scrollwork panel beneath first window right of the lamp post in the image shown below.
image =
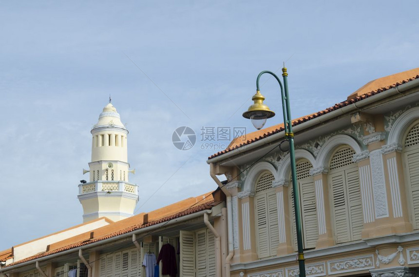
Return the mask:
[[327,262],[329,275],[374,268],[374,256],[360,256]]

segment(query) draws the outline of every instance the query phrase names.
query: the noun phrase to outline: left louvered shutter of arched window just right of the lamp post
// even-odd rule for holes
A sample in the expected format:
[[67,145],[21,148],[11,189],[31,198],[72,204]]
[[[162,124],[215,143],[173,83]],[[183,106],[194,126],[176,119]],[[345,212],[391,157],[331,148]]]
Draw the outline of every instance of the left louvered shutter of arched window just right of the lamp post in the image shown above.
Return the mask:
[[336,243],[350,240],[344,171],[330,174]]

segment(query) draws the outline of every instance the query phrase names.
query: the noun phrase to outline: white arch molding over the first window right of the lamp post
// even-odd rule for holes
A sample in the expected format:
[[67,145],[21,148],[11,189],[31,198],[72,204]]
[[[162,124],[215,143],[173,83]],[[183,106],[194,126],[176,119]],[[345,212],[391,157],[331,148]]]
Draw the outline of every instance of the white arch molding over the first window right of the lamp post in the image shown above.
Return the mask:
[[313,167],[317,168],[320,166],[328,166],[329,159],[331,158],[330,156],[332,155],[333,151],[340,145],[344,144],[347,144],[352,149],[354,149],[356,154],[362,152],[358,142],[354,140],[352,137],[348,135],[335,135],[324,143],[324,145],[319,151],[319,155],[317,156],[316,164],[313,165]]

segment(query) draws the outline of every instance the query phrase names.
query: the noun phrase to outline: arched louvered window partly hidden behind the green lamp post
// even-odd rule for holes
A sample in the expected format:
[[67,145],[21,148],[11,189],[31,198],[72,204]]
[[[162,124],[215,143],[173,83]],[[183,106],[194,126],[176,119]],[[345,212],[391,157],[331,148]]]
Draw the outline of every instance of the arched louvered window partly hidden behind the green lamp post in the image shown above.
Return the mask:
[[[301,159],[296,164],[297,182],[300,192],[301,221],[303,224],[303,243],[304,248],[316,247],[319,238],[316,195],[313,177],[310,176],[311,163],[306,159]],[[297,249],[297,231],[295,227],[295,209],[294,209],[294,191],[292,180],[290,178],[289,203],[292,213],[292,234],[294,240],[294,249]]]

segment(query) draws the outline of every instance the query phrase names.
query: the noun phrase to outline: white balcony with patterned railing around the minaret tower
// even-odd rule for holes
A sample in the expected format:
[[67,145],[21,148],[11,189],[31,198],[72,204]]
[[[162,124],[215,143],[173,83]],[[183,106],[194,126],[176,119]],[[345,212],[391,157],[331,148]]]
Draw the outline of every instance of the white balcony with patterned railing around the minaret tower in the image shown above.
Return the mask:
[[138,185],[124,181],[94,181],[78,185],[78,194],[83,195],[92,192],[112,193],[125,192],[138,195]]

